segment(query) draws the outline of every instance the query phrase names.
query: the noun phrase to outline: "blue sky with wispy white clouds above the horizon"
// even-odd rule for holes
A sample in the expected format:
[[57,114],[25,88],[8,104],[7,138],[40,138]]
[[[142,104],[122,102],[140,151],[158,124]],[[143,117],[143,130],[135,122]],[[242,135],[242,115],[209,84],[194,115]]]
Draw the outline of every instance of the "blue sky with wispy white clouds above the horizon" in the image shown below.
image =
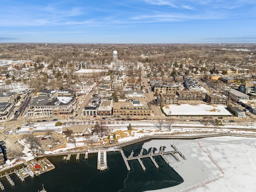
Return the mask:
[[256,0],[1,0],[0,42],[256,43]]

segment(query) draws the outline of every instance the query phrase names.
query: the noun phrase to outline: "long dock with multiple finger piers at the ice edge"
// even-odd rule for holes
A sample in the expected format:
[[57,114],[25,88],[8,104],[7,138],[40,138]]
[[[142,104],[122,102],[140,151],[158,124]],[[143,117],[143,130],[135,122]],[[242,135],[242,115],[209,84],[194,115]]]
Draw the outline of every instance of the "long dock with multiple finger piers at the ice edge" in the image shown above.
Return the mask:
[[122,154],[122,157],[124,159],[124,162],[126,164],[126,167],[127,167],[127,170],[130,170],[130,166],[128,164],[128,161],[129,160],[135,160],[137,159],[138,162],[140,163],[140,166],[142,167],[143,170],[146,170],[144,164],[142,163],[142,160],[141,158],[146,158],[146,157],[149,157],[150,160],[153,162],[154,166],[156,168],[159,168],[158,164],[156,163],[155,159],[153,158],[154,156],[161,156],[163,158],[163,160],[166,162],[166,163],[169,163],[169,161],[167,160],[167,158],[164,156],[166,154],[171,154],[172,156],[174,156],[174,158],[177,160],[177,161],[180,161],[180,159],[178,158],[178,156],[176,155],[176,153],[178,153],[182,158],[186,159],[186,157],[174,146],[174,145],[171,145],[174,150],[173,151],[167,151],[167,152],[164,152],[164,146],[161,146],[160,147],[160,151],[159,153],[154,153],[154,148],[151,147],[150,148],[150,152],[148,154],[145,154],[143,155],[143,151],[144,149],[142,148],[140,150],[140,153],[138,154],[138,156],[133,156],[134,152],[132,151],[130,156],[127,158],[125,155],[124,155],[124,152],[123,150],[121,149],[120,150],[120,153]]

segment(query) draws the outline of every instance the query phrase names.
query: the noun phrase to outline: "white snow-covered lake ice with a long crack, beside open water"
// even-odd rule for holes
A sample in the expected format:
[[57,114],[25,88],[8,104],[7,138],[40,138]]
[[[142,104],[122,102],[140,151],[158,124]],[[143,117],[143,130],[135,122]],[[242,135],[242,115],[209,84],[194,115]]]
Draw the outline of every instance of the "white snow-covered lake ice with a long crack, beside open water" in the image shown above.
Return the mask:
[[[256,138],[212,137],[197,140],[151,140],[143,145],[165,151],[174,144],[186,160],[166,156],[184,182],[157,192],[254,192],[256,189]],[[180,157],[179,157],[180,158]]]

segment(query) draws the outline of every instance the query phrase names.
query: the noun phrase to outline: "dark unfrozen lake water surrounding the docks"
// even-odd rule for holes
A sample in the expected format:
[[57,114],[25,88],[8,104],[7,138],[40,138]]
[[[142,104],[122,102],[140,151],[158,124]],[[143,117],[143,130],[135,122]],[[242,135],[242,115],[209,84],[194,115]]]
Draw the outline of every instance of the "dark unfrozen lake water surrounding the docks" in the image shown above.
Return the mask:
[[[137,143],[123,148],[128,157],[134,151],[137,156],[143,143]],[[149,150],[149,149],[147,149]],[[159,149],[157,149],[159,150]],[[144,150],[144,154],[146,154]],[[88,160],[80,156],[72,156],[69,162],[62,157],[48,157],[56,167],[34,178],[27,177],[25,182],[12,174],[15,186],[11,186],[4,177],[0,181],[5,192],[38,192],[42,184],[47,192],[142,192],[175,186],[183,182],[182,177],[175,172],[160,156],[154,157],[159,168],[157,169],[150,158],[143,158],[146,170],[143,171],[137,160],[129,161],[130,172],[127,170],[119,152],[107,154],[108,170],[97,170],[97,154],[89,154]]]

